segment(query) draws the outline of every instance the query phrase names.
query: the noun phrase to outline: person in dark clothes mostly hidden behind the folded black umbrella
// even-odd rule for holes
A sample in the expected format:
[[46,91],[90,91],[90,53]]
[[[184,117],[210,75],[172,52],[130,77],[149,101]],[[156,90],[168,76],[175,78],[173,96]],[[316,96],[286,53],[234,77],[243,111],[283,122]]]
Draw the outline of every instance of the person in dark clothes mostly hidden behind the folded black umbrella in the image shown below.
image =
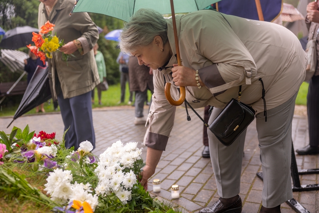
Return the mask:
[[[34,55],[34,53],[30,52],[29,50],[29,58],[28,59],[24,59],[24,70],[28,73],[28,76],[27,76],[27,84],[29,84],[36,68],[38,66],[41,66],[41,67],[45,67],[46,65],[43,64],[43,62],[40,60],[40,58],[38,58],[36,55]],[[44,103],[41,104],[41,112],[45,112],[44,110]],[[39,106],[37,106],[35,108],[36,112],[39,112]]]

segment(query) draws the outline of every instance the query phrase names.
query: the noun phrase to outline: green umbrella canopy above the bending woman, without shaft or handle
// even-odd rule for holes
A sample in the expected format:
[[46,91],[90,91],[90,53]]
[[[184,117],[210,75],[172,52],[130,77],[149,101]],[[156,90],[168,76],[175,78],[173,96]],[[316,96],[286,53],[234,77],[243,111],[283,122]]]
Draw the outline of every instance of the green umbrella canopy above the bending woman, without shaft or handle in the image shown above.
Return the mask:
[[[219,0],[174,0],[175,13],[202,10]],[[178,5],[178,6],[177,6]],[[150,8],[161,14],[171,14],[170,0],[79,0],[73,12],[94,12],[129,21],[134,12]]]

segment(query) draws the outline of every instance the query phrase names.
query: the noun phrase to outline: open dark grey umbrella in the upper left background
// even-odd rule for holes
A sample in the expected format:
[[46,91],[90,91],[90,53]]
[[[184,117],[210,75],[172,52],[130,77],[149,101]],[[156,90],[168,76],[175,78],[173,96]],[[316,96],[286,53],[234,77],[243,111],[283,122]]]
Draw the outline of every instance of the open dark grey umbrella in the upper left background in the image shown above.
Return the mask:
[[25,47],[26,45],[33,43],[32,32],[38,33],[39,29],[23,26],[8,30],[1,40],[0,47],[3,49],[18,49],[20,47]]

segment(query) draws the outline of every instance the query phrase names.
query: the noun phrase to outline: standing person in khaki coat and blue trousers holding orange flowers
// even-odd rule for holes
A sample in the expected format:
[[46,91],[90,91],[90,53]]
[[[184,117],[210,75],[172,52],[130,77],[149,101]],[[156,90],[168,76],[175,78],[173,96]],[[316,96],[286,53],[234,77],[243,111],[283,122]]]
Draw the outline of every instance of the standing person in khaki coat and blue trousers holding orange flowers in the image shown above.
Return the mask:
[[[52,34],[64,40],[60,51],[49,59],[51,93],[60,105],[64,123],[65,146],[78,149],[82,141],[95,147],[91,91],[100,83],[93,46],[99,39],[98,30],[88,13],[73,13],[73,0],[40,0],[38,26],[48,20],[55,24]],[[67,61],[62,52],[72,54]]]

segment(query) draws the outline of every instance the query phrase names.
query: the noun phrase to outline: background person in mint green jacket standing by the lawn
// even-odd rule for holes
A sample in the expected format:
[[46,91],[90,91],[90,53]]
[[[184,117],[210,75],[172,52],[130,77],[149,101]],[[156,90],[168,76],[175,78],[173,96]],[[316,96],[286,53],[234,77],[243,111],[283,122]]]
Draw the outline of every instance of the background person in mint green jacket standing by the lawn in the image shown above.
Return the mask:
[[[94,50],[96,65],[98,67],[98,72],[99,72],[99,76],[100,76],[100,84],[98,84],[96,87],[98,89],[99,105],[102,105],[102,103],[101,103],[101,92],[102,92],[101,86],[102,86],[102,82],[104,80],[106,80],[106,67],[105,67],[103,53],[98,51],[98,49],[99,49],[99,45],[96,43],[95,46],[93,47],[93,50]],[[94,89],[92,90],[92,103],[94,103]]]

